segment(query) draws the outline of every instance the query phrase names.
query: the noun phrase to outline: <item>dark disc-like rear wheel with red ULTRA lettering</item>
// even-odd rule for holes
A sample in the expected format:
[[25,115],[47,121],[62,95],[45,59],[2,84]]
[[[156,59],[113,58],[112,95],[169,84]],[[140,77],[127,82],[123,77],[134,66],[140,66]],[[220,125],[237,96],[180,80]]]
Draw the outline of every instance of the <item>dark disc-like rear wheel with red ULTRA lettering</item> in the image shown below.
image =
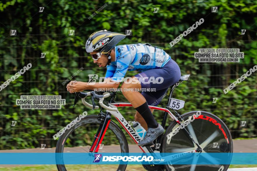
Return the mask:
[[[183,114],[182,117],[184,117],[184,121],[182,123],[189,121],[188,119],[192,120],[196,112],[197,111],[191,111]],[[167,136],[178,127],[178,123],[174,121],[167,128],[162,141],[162,153],[181,153],[197,149],[196,144],[188,138],[188,135],[186,135],[182,129],[173,136]],[[232,137],[228,127],[214,114],[201,111],[201,115],[185,126],[184,129],[186,129],[197,144],[200,145],[203,153],[226,153],[226,155],[228,153],[229,161],[231,161],[231,154],[233,152]],[[172,133],[170,135],[172,135]],[[195,157],[194,160],[198,160],[198,158]],[[215,160],[215,158],[213,160]],[[165,165],[166,170],[170,171],[226,171],[228,167],[229,165]]]

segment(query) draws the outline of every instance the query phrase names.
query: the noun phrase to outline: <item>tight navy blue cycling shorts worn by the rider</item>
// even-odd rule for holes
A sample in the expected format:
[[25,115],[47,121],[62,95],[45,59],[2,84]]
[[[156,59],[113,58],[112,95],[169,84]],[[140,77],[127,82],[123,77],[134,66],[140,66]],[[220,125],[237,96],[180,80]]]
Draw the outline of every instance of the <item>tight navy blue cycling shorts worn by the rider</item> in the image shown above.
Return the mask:
[[142,95],[145,97],[148,105],[157,106],[169,87],[180,80],[180,68],[175,61],[170,59],[162,68],[146,70],[135,75],[135,77],[139,78],[148,77],[148,79],[144,79],[144,82],[148,82],[149,78],[152,76],[154,76],[155,79],[157,77],[163,77],[164,80],[161,84],[153,84],[153,81],[150,81],[147,84],[141,82],[141,88],[155,88],[156,90],[143,91]]

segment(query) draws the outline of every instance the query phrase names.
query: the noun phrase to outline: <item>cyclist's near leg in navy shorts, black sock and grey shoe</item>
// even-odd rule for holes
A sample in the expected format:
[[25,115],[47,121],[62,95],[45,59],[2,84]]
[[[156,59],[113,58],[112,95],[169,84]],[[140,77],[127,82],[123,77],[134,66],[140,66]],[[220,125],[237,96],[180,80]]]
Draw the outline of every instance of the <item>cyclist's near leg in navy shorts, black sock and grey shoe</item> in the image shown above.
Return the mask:
[[[141,82],[141,86],[139,84],[122,84],[122,88],[155,88],[156,91],[167,89],[172,84],[175,84],[180,79],[180,68],[178,64],[172,59],[167,62],[167,64],[163,68],[146,70],[140,74],[135,75],[136,77],[162,77],[163,82],[161,84],[154,84],[150,82],[148,84],[144,84]],[[145,82],[148,82],[149,79],[144,79]],[[166,92],[166,91],[165,91]],[[165,93],[164,92],[164,93]],[[146,145],[151,143],[157,136],[163,133],[164,129],[160,126],[157,121],[154,119],[152,112],[150,111],[148,104],[142,94],[135,91],[122,91],[124,96],[131,102],[133,107],[141,114],[144,118],[145,122],[148,126],[148,134],[145,136],[144,140],[140,141],[138,145]],[[152,93],[152,92],[151,92]],[[156,92],[158,94],[158,92]],[[163,94],[161,94],[162,96]],[[157,98],[156,96],[153,98]],[[158,97],[159,98],[159,97]]]

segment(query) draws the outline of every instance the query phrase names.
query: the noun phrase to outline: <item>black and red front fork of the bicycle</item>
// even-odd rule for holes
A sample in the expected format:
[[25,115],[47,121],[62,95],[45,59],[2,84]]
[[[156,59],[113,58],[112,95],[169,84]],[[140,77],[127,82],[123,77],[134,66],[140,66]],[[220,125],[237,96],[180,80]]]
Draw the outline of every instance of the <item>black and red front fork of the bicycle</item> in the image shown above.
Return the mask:
[[98,152],[100,144],[103,141],[105,132],[106,132],[106,130],[107,130],[109,124],[110,124],[110,121],[111,121],[111,114],[109,112],[106,112],[104,122],[103,122],[103,124],[101,124],[99,126],[99,128],[97,130],[97,133],[95,134],[95,137],[94,137],[94,140],[92,142],[92,145],[90,147],[89,152],[93,152],[93,151],[94,151],[94,153]]

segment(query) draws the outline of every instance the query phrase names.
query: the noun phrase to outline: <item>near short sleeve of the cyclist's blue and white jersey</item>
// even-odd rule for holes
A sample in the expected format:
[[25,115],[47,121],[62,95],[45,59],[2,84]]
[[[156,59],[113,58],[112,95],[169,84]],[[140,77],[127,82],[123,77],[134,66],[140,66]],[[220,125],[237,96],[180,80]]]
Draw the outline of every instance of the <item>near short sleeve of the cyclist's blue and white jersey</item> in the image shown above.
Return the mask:
[[132,55],[127,48],[122,48],[120,50],[119,56],[117,57],[117,68],[114,72],[112,80],[115,82],[121,82],[124,78],[129,64],[131,64]]

